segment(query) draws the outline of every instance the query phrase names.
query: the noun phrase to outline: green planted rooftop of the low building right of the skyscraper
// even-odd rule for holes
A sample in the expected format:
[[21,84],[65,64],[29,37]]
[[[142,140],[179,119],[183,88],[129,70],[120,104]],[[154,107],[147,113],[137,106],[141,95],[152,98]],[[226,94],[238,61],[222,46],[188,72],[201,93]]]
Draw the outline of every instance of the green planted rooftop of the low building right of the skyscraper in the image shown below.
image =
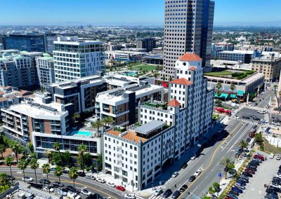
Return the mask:
[[225,77],[225,78],[235,78],[235,79],[242,79],[246,78],[247,76],[250,76],[251,74],[254,74],[255,71],[218,71],[218,72],[210,72],[205,73],[206,76],[216,76],[216,77]]

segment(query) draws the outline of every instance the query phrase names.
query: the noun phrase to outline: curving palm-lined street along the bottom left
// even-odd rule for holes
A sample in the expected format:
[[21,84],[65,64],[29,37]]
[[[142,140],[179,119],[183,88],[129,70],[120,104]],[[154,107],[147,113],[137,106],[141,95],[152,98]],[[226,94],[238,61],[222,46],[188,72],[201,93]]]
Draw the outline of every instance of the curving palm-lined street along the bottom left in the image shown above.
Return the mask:
[[[0,167],[0,172],[6,172],[7,174],[10,174],[10,168]],[[20,181],[22,179],[23,177],[22,171],[18,170],[17,167],[12,167],[12,172],[16,180]],[[33,182],[35,182],[34,170],[30,170],[29,168],[27,168],[27,170],[25,170],[25,176],[32,177],[34,179]],[[41,170],[38,169],[37,170],[38,183],[39,180],[42,178],[46,179],[46,177],[42,175]],[[48,174],[48,178],[51,182],[58,181],[58,177],[55,177],[53,172]],[[60,180],[63,184],[65,184],[65,186],[67,185],[73,186],[73,181],[67,176],[67,174],[63,174],[63,176],[60,177]],[[101,184],[97,181],[91,181],[89,179],[85,179],[84,177],[78,177],[78,179],[75,181],[75,188],[77,188],[77,190],[81,190],[81,188],[85,188],[85,187],[87,190],[91,191],[91,193],[99,193],[103,197],[111,197],[116,199],[124,198],[124,195],[128,193],[127,191],[122,192],[117,190],[116,188],[112,188],[110,186],[107,186],[106,184]]]

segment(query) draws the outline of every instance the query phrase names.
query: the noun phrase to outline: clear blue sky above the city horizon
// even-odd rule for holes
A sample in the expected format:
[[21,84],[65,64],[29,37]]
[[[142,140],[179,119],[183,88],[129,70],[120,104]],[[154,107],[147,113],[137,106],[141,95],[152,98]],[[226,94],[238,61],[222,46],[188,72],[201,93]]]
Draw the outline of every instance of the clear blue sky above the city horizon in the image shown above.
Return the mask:
[[[214,0],[214,25],[281,26],[281,0]],[[164,0],[0,0],[0,25],[164,25]]]

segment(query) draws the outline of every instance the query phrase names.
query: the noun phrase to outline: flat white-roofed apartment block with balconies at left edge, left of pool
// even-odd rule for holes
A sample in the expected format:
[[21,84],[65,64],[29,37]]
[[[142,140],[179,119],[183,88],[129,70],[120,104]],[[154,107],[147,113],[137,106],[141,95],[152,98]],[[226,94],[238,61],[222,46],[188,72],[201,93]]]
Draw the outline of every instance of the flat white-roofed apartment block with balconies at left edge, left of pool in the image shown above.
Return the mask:
[[4,132],[31,142],[35,132],[65,135],[71,129],[72,108],[72,104],[51,102],[51,97],[32,97],[1,109]]

